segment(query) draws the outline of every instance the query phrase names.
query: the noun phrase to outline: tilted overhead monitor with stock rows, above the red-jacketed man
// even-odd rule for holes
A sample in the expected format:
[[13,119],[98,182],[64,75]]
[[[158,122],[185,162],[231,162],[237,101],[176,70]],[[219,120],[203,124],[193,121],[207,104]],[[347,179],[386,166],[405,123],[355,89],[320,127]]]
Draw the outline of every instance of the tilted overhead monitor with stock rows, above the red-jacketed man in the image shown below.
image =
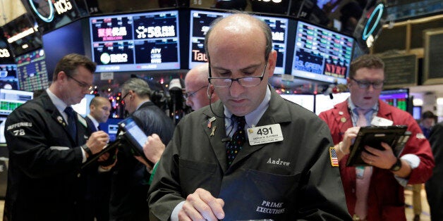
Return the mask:
[[353,44],[352,37],[298,21],[291,75],[346,84]]

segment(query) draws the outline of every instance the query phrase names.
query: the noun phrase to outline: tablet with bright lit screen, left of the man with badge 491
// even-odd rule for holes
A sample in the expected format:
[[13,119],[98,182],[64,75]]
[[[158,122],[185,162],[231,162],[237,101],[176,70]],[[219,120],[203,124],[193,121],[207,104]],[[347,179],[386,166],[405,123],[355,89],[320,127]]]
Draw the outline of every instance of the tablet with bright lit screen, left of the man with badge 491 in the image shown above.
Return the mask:
[[143,152],[143,145],[147,141],[147,135],[143,132],[132,117],[119,122],[119,128],[123,131],[123,137],[133,149],[135,156],[141,156],[146,162],[154,167],[154,163],[148,160]]

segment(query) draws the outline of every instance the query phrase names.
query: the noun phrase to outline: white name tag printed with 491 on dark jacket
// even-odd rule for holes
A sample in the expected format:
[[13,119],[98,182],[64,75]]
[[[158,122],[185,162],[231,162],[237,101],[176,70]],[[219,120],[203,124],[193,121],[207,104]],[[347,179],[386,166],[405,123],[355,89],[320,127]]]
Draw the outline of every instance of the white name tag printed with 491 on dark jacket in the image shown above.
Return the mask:
[[249,145],[267,144],[283,140],[279,124],[248,128]]

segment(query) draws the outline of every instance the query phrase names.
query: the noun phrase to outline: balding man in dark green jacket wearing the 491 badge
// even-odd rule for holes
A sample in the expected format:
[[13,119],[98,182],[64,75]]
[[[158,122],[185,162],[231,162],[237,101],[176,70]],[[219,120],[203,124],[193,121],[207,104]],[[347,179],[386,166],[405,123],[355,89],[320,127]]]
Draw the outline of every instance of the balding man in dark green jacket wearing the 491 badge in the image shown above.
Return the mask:
[[178,123],[152,181],[150,219],[351,220],[327,125],[267,83],[277,62],[267,23],[219,18],[205,46],[220,100]]

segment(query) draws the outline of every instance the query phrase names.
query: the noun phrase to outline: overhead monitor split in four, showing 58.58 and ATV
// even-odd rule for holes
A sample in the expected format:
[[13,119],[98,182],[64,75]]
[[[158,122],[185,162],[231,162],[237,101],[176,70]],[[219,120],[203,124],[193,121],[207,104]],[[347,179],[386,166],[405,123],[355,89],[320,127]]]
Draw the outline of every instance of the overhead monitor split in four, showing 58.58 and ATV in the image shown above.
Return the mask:
[[97,72],[180,69],[178,11],[91,17]]

